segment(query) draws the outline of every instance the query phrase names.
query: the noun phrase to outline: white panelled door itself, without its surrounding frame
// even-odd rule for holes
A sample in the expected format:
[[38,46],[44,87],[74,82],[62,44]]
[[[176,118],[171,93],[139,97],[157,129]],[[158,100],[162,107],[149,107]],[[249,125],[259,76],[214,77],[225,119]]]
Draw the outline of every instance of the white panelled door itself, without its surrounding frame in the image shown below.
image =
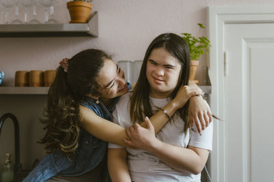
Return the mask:
[[274,181],[274,24],[227,24],[227,181]]

